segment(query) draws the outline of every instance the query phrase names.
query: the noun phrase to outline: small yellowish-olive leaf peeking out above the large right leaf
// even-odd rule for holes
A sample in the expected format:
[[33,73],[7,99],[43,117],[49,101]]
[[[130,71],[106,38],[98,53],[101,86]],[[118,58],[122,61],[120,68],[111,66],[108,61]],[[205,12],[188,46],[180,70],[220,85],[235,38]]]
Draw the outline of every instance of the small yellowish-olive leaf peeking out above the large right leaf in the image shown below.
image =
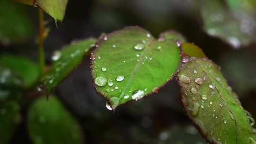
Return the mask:
[[184,54],[193,57],[206,57],[201,48],[191,43],[182,43],[182,50]]

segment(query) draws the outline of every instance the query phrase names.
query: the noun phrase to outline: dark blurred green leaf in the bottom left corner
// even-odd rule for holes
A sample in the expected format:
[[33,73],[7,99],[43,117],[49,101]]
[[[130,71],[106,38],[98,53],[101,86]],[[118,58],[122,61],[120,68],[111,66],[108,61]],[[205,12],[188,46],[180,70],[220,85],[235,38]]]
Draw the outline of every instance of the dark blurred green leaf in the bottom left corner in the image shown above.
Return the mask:
[[20,121],[21,115],[17,102],[0,103],[0,144],[9,144]]

